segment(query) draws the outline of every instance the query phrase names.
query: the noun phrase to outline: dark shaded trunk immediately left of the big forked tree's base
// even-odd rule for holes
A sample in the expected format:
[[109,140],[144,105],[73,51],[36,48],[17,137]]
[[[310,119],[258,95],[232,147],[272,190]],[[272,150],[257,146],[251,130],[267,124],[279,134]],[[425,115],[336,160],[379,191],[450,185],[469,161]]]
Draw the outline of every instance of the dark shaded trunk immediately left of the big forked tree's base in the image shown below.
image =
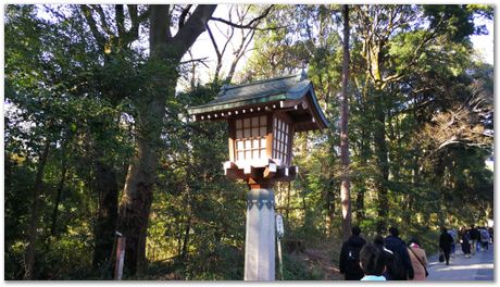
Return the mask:
[[95,270],[101,270],[103,273],[112,275],[111,254],[118,215],[118,186],[114,169],[103,163],[102,160],[96,162],[96,187],[99,195],[99,208],[92,266]]

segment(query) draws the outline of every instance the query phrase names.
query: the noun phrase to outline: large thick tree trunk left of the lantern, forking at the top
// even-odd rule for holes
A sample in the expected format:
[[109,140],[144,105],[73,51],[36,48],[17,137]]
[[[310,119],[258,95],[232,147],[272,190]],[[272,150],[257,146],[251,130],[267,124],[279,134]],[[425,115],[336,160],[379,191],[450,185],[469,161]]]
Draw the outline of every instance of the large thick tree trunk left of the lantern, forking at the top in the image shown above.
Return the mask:
[[146,260],[146,235],[153,199],[158,152],[161,146],[165,103],[175,92],[176,67],[182,57],[205,29],[216,5],[198,5],[188,21],[172,37],[168,5],[150,7],[150,63],[163,65],[163,71],[148,75],[153,88],[136,99],[136,153],[128,169],[120,207],[120,230],[126,237],[125,270],[130,275]]

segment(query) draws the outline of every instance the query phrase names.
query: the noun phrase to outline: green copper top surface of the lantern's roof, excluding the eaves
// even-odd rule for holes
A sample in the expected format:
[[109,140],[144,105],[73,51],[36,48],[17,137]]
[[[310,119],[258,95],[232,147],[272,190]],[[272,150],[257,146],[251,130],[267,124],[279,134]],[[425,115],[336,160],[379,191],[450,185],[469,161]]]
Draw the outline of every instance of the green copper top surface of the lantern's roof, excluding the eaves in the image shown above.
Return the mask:
[[192,107],[188,112],[191,115],[225,112],[265,103],[300,100],[305,96],[310,97],[322,126],[326,126],[327,121],[317,104],[312,83],[307,79],[305,73],[243,85],[224,85],[214,100],[203,105]]

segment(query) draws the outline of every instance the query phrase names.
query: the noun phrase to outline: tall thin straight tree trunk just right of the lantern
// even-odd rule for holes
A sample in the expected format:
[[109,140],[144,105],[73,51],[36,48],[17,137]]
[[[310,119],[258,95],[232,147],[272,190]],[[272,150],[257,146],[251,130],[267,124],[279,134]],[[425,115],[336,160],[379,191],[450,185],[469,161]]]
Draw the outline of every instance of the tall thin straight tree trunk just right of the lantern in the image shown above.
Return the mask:
[[342,101],[340,114],[340,159],[342,162],[342,175],[340,183],[340,201],[342,207],[342,235],[346,241],[351,234],[351,195],[349,178],[349,137],[348,137],[348,116],[349,116],[349,5],[343,5],[343,63],[342,63]]

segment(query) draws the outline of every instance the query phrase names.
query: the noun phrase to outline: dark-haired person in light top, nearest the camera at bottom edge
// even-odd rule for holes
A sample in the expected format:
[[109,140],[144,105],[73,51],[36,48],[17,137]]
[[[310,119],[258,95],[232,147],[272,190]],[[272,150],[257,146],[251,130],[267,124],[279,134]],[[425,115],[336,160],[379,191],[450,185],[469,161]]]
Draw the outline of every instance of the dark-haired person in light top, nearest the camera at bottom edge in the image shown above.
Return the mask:
[[382,275],[385,271],[384,257],[380,249],[374,245],[367,244],[361,249],[360,266],[364,273],[361,280],[386,280]]

